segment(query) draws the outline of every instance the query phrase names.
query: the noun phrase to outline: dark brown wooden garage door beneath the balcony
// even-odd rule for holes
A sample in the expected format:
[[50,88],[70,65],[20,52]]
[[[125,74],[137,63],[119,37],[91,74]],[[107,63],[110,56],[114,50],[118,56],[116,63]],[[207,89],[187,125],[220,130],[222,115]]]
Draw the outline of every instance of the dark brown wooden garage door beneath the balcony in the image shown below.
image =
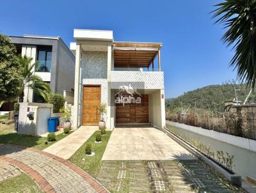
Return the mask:
[[148,123],[148,95],[140,97],[141,104],[116,104],[116,123]]

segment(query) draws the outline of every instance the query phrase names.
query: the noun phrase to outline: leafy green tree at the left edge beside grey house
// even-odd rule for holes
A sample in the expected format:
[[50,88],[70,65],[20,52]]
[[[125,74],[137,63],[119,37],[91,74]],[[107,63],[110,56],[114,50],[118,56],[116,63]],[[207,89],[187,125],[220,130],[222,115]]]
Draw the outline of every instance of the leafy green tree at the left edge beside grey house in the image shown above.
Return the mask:
[[0,106],[19,96],[22,75],[17,62],[15,46],[10,38],[0,33]]

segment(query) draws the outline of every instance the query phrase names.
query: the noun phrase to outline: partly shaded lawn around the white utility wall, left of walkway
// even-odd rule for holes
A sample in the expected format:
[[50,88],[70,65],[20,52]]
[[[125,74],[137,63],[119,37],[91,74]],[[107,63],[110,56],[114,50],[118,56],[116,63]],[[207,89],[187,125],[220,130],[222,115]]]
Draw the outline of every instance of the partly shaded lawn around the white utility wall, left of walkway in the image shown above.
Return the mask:
[[[20,146],[26,146],[29,148],[36,148],[39,150],[44,150],[51,144],[60,141],[64,137],[67,137],[65,134],[56,135],[56,141],[51,143],[45,144],[47,141],[47,137],[38,137],[38,136],[31,136],[31,135],[19,135],[13,129],[14,126],[12,125],[5,125],[0,123],[0,143],[10,143],[10,144],[17,144]],[[70,132],[71,134],[72,132]]]

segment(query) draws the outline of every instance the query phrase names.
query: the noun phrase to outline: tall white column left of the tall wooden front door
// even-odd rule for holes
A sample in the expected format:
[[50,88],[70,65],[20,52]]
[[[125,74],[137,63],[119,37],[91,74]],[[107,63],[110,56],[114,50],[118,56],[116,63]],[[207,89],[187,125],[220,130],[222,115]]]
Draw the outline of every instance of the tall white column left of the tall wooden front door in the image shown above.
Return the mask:
[[79,119],[79,82],[80,82],[80,64],[81,64],[81,45],[77,43],[76,45],[76,72],[75,72],[75,85],[74,85],[74,112],[73,112],[73,125],[74,129],[78,128],[78,119]]

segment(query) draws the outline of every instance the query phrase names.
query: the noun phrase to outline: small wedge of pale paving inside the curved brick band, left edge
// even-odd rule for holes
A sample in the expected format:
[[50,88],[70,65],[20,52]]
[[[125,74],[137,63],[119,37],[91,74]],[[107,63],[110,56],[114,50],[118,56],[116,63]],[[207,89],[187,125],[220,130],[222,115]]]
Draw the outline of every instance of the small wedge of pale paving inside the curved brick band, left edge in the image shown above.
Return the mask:
[[0,181],[19,176],[21,171],[19,168],[9,164],[8,162],[0,160]]

